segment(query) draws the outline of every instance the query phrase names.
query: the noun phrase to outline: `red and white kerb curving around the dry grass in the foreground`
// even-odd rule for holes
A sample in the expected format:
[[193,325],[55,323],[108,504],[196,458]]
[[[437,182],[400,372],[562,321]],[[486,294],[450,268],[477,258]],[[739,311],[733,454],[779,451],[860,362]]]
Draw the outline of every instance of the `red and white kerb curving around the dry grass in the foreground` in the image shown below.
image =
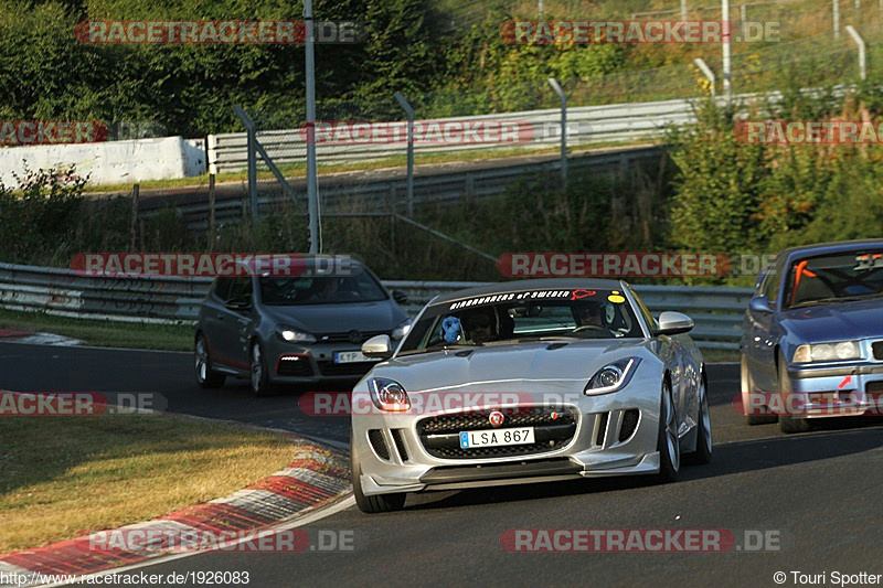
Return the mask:
[[[247,533],[267,530],[339,503],[351,491],[347,452],[291,437],[298,443],[295,460],[268,478],[228,496],[114,531],[174,528],[214,535]],[[41,575],[96,574],[168,555],[161,550],[113,547],[96,550],[91,548],[95,534],[0,555],[0,580],[6,582],[0,582],[0,588],[52,581]],[[17,580],[10,581],[12,577]]]

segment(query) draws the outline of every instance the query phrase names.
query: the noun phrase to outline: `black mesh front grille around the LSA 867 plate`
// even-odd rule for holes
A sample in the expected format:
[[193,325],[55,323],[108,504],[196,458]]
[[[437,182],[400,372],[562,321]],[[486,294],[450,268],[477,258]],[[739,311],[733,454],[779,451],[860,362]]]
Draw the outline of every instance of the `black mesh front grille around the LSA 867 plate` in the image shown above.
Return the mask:
[[[481,459],[530,456],[554,451],[566,446],[576,432],[576,413],[551,407],[518,407],[500,409],[506,420],[492,427],[488,420],[491,410],[426,417],[417,423],[417,435],[430,456],[443,459]],[[535,442],[502,447],[460,448],[461,431],[533,427]]]

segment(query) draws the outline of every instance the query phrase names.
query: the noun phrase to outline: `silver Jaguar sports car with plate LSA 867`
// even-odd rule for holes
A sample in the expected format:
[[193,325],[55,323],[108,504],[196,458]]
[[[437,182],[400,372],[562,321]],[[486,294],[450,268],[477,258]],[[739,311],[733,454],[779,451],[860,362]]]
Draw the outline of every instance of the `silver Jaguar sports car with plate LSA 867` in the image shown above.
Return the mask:
[[621,474],[673,481],[712,453],[702,354],[624,281],[524,280],[433,299],[352,395],[364,512],[408,492]]

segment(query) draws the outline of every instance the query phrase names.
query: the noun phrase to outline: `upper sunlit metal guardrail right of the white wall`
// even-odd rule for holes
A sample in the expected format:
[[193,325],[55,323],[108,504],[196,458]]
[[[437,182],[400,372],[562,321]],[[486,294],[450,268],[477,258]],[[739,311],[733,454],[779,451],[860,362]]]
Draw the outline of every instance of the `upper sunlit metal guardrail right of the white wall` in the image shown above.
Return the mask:
[[[670,126],[681,126],[695,121],[694,100],[677,99],[653,103],[630,103],[603,106],[579,106],[567,108],[567,147],[613,141],[636,141],[653,139],[664,133]],[[526,110],[521,113],[501,113],[456,118],[417,120],[415,124],[429,126],[446,122],[520,122],[530,124],[532,138],[522,143],[460,143],[460,145],[423,145],[416,143],[415,154],[456,152],[471,150],[538,149],[556,147],[561,142],[561,110]],[[384,122],[384,125],[406,125],[404,121]],[[307,143],[301,129],[284,129],[259,131],[257,139],[267,150],[267,154],[277,165],[302,163],[307,157]],[[248,162],[247,135],[230,132],[210,135],[209,171],[224,173],[242,171]],[[404,156],[406,145],[395,146],[389,142],[349,142],[333,145],[317,141],[317,157],[323,163],[365,162],[390,156]]]

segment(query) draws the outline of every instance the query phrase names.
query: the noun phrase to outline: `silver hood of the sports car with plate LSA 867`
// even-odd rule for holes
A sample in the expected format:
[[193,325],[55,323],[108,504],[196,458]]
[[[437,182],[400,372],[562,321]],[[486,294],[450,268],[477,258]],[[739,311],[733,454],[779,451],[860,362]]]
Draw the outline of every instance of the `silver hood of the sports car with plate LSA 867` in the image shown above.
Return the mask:
[[536,342],[460,348],[405,355],[377,365],[370,376],[395,379],[408,392],[583,391],[604,365],[652,355],[643,339]]

